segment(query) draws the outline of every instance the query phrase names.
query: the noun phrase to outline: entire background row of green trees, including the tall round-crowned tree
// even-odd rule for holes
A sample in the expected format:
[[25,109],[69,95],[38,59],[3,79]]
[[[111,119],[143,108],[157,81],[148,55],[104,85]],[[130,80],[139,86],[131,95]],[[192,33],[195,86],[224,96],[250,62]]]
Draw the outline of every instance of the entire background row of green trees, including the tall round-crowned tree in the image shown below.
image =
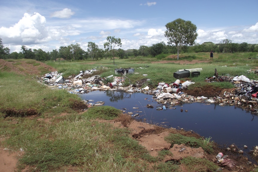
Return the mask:
[[190,21],[176,19],[166,24],[164,36],[167,37],[168,45],[165,42],[152,44],[151,46],[141,45],[139,49],[123,50],[120,38],[107,36],[104,43],[104,50],[99,48],[94,42],[88,42],[87,50],[83,50],[78,43],[68,46],[61,46],[58,50],[45,52],[42,49],[31,49],[22,45],[19,53],[12,52],[3,46],[0,38],[0,59],[34,59],[37,61],[48,60],[99,60],[112,58],[115,64],[115,57],[119,59],[134,58],[137,56],[163,58],[167,54],[213,52],[217,53],[236,53],[236,52],[258,52],[258,44],[248,44],[247,42],[233,43],[230,39],[224,39],[218,44],[204,42],[195,44],[198,34],[197,27]]

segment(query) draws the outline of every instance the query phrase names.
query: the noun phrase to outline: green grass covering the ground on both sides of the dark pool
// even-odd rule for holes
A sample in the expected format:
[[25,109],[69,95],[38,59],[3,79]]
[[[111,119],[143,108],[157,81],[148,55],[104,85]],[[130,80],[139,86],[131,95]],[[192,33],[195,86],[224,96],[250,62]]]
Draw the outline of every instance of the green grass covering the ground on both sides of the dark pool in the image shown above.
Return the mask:
[[[209,55],[209,54],[208,54]],[[222,54],[223,55],[223,54]],[[226,54],[227,55],[227,54]],[[205,56],[205,57],[204,57]],[[244,57],[243,57],[244,56]],[[256,55],[257,56],[257,55]],[[185,54],[184,64],[177,64],[173,59],[167,63],[154,58],[137,57],[134,59],[101,60],[92,62],[47,62],[48,65],[63,72],[63,77],[77,75],[81,70],[96,68],[102,77],[115,75],[116,68],[135,69],[136,73],[128,75],[132,82],[150,79],[146,85],[157,86],[159,82],[172,83],[173,73],[179,69],[202,68],[199,77],[187,78],[204,85],[207,77],[219,74],[230,76],[245,75],[257,79],[257,59],[242,54],[233,57],[219,56],[218,59],[205,63],[187,64],[191,60],[209,60],[206,54]],[[204,59],[206,58],[206,59]],[[164,59],[163,59],[164,60]],[[146,67],[148,66],[148,67]],[[45,74],[45,71],[42,71]],[[151,156],[145,147],[129,137],[127,128],[115,128],[111,124],[101,123],[101,119],[122,119],[130,121],[120,110],[110,106],[96,106],[81,113],[83,102],[77,95],[62,89],[49,89],[37,83],[29,75],[16,74],[11,71],[0,73],[0,138],[1,148],[12,151],[23,150],[19,160],[19,171],[30,167],[28,171],[179,171],[183,163],[189,171],[215,171],[217,166],[207,159],[185,158],[181,162],[163,162],[169,151],[160,151],[157,157]],[[221,87],[231,84],[214,83]],[[7,117],[7,112],[12,117]],[[34,118],[28,118],[33,113]],[[26,117],[26,118],[24,118]],[[126,126],[126,124],[124,124]],[[166,141],[172,144],[184,143],[191,147],[203,147],[206,153],[212,153],[213,141],[210,138],[198,139],[170,134]],[[194,143],[194,144],[192,144]],[[203,169],[203,167],[206,167]],[[258,170],[257,170],[258,171]]]

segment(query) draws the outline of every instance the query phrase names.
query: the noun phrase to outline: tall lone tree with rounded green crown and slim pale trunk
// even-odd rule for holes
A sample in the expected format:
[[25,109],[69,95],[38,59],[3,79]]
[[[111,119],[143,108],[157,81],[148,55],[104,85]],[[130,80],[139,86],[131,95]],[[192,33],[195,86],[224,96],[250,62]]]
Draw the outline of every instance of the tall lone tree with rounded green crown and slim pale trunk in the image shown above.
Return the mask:
[[196,32],[196,25],[190,21],[183,19],[176,19],[173,22],[166,24],[167,30],[165,37],[168,39],[168,44],[175,44],[177,46],[177,60],[179,59],[179,49],[183,45],[193,45],[198,34]]

